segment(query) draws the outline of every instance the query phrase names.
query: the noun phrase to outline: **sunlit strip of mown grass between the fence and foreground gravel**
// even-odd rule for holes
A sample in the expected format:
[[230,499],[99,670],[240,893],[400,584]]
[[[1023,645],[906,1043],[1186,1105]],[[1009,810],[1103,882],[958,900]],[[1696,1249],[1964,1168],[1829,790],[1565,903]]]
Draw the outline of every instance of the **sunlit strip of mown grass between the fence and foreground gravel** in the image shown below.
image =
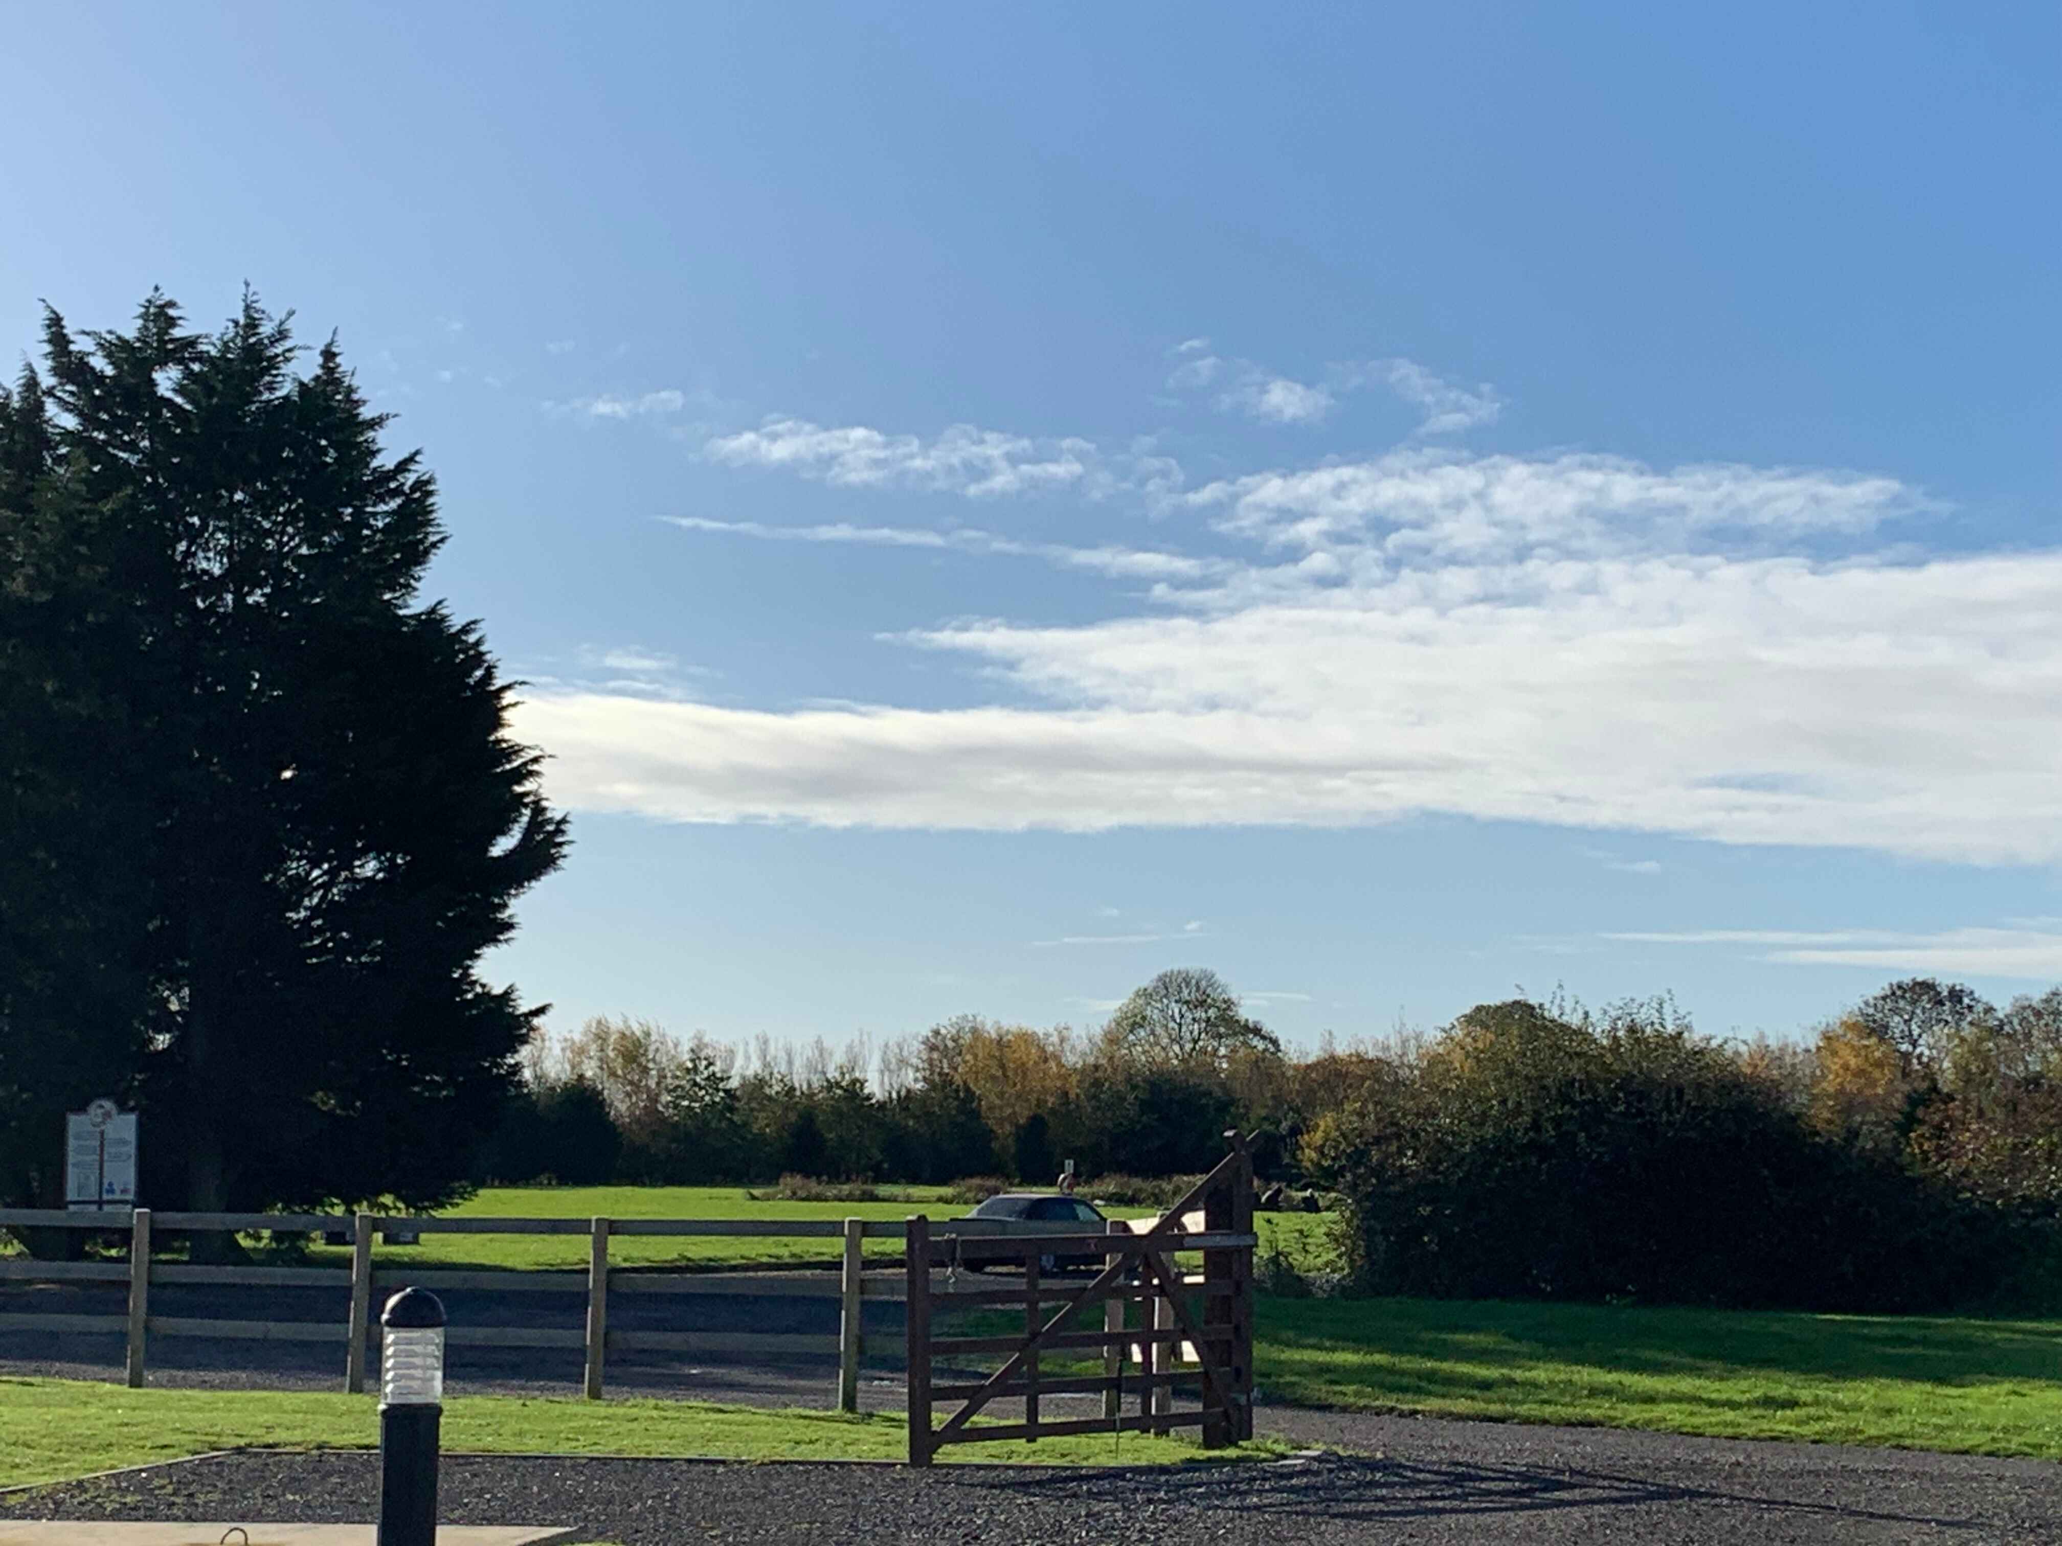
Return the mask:
[[[373,1398],[326,1391],[124,1389],[68,1379],[0,1379],[0,1486],[144,1466],[210,1449],[367,1449]],[[443,1408],[443,1447],[480,1453],[703,1455],[716,1459],[903,1459],[901,1416],[767,1412],[707,1402],[577,1402],[462,1396]],[[1278,1453],[1278,1445],[1210,1451]],[[940,1464],[1161,1466],[1206,1451],[1146,1435],[1002,1441]]]

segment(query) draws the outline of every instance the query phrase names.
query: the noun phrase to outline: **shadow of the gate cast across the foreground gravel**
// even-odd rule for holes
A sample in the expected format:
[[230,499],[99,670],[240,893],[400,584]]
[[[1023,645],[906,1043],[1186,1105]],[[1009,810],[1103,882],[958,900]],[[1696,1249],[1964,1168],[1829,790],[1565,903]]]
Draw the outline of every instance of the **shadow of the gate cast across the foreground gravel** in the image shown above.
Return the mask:
[[[1324,1455],[1272,1466],[1198,1466],[1153,1472],[1153,1488],[1167,1501],[1229,1513],[1303,1515],[1355,1523],[1402,1519],[1454,1519],[1468,1515],[1540,1513],[1553,1509],[1627,1509],[1670,1503],[1707,1503],[1747,1509],[1782,1509],[1800,1515],[1870,1519],[1940,1530],[1977,1527],[1975,1519],[1944,1519],[1920,1513],[1883,1513],[1833,1503],[1800,1503],[1782,1497],[1730,1492],[1701,1486],[1641,1482],[1635,1476],[1584,1470],[1528,1470],[1522,1466],[1427,1466],[1406,1459]],[[1066,1472],[1025,1476],[953,1478],[996,1492],[1039,1497],[1066,1492],[1093,1499],[1101,1492],[1132,1497],[1138,1474]]]

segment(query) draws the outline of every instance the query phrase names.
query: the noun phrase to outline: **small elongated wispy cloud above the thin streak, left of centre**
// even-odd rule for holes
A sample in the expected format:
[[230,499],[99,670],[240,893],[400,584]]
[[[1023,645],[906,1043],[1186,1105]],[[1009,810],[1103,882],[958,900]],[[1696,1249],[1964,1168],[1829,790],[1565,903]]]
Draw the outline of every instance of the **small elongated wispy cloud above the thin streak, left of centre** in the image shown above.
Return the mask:
[[864,425],[825,429],[806,418],[771,418],[720,435],[703,456],[730,466],[784,468],[845,489],[916,489],[971,499],[1080,493],[1101,499],[1120,486],[1177,486],[1165,458],[1105,456],[1087,439],[1033,439],[953,425],[934,439],[887,435]]

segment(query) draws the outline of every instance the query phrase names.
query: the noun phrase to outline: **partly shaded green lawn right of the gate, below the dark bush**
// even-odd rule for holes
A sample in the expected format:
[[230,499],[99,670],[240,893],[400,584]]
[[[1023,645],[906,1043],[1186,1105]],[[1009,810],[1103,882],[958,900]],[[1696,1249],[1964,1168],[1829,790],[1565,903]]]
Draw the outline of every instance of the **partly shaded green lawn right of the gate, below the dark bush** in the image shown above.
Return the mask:
[[1262,1299],[1272,1400],[2062,1459],[2062,1323]]

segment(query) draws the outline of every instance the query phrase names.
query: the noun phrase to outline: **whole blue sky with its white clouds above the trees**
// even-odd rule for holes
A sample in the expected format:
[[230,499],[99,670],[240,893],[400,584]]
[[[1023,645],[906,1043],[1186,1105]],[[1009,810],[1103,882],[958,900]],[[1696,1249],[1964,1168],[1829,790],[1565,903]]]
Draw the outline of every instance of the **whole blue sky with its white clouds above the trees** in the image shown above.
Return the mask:
[[336,330],[553,1022],[2062,981],[2046,6],[8,6],[0,338]]

